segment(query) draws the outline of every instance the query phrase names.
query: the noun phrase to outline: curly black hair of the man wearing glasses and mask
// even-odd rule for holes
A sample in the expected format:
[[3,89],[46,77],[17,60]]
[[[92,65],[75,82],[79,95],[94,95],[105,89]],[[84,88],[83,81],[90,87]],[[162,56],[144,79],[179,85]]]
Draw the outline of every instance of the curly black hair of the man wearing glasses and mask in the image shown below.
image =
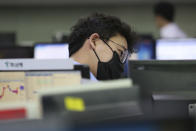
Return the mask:
[[133,50],[136,33],[127,24],[121,22],[117,17],[95,13],[80,19],[72,27],[72,32],[68,39],[69,55],[71,56],[77,52],[83,46],[85,40],[93,33],[98,33],[100,39],[106,41],[119,33],[127,40],[128,49]]

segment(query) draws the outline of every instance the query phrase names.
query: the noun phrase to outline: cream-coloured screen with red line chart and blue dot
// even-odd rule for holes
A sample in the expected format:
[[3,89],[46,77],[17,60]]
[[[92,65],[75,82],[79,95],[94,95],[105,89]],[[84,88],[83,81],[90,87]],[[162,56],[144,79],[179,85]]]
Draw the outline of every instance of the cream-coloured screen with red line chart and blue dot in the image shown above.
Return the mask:
[[0,103],[33,100],[39,89],[80,84],[80,71],[2,71]]

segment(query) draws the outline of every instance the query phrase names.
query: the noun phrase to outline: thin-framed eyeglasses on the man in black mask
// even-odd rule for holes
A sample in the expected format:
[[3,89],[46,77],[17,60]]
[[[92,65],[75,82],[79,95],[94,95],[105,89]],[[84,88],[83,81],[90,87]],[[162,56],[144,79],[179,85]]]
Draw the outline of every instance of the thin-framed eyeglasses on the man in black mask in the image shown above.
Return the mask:
[[[112,43],[114,43],[114,44],[116,44],[116,45],[118,45],[119,47],[121,47],[121,48],[123,48],[123,50],[124,51],[122,51],[121,52],[121,54],[119,55],[119,58],[120,58],[120,62],[122,63],[122,64],[124,64],[125,62],[126,62],[126,60],[127,60],[127,58],[129,57],[129,51],[128,51],[128,49],[126,49],[124,46],[122,46],[122,45],[120,45],[120,44],[118,44],[118,43],[116,43],[116,42],[114,42],[114,41],[112,41],[112,40],[108,40],[108,41],[111,41]],[[104,43],[106,43],[106,45],[108,45],[108,43],[105,41],[105,40],[103,40],[103,42]],[[109,46],[109,45],[108,45]],[[109,46],[110,47],[110,46]],[[111,47],[110,47],[111,48]],[[112,49],[112,48],[111,48]],[[112,49],[113,50],[113,49]]]

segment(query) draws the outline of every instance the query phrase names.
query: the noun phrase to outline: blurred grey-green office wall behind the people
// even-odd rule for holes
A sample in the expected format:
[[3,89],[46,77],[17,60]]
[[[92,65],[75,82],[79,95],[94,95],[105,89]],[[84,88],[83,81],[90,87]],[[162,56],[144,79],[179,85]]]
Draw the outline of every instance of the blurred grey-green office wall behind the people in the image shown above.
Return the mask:
[[[91,12],[104,12],[120,17],[139,33],[159,36],[154,25],[152,5],[123,6],[71,6],[71,7],[2,7],[0,8],[0,31],[16,31],[17,42],[32,45],[31,42],[51,41],[55,32],[69,32],[78,18]],[[187,32],[196,36],[195,5],[177,5],[176,21]]]

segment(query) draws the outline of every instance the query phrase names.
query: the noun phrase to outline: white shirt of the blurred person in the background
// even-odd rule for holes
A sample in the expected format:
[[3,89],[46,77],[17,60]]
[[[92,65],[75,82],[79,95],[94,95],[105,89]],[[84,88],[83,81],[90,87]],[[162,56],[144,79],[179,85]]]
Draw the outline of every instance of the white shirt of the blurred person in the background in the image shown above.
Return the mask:
[[161,38],[185,38],[186,34],[175,23],[169,23],[160,29]]

